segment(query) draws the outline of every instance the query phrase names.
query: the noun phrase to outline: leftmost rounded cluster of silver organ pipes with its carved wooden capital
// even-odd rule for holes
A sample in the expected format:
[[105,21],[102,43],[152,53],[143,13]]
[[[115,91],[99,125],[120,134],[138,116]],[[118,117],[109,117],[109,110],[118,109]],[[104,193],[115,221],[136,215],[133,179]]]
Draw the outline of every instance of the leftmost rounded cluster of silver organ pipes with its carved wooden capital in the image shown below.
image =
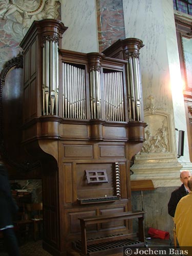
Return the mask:
[[[43,115],[58,115],[58,92],[59,92],[59,39],[60,29],[62,33],[67,29],[61,25],[44,23],[41,36],[42,46],[42,113]],[[52,26],[50,26],[52,25]],[[50,29],[52,28],[52,30]]]

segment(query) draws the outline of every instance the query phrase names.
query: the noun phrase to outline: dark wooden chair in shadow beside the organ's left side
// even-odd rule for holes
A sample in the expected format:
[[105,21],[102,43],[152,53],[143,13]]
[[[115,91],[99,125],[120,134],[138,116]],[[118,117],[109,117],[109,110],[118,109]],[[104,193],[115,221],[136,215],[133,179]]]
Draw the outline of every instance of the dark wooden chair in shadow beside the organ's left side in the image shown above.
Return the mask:
[[42,224],[42,202],[26,204],[26,218],[33,222],[33,238],[37,240],[37,233],[41,233]]

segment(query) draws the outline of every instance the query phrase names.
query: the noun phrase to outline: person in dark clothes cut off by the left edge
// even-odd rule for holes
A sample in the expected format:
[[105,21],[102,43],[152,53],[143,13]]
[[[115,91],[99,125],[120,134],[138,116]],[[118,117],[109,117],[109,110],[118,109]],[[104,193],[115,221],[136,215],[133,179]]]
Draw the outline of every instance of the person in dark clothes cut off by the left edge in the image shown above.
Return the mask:
[[3,232],[9,256],[20,256],[12,221],[12,217],[16,215],[18,207],[12,198],[7,171],[1,160],[0,209],[0,230]]

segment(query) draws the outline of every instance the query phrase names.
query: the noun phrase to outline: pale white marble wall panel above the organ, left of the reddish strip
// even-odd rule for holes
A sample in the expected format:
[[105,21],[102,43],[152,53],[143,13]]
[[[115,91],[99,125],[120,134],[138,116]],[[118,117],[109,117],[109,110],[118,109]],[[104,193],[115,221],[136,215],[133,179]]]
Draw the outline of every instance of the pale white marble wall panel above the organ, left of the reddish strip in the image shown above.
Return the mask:
[[68,27],[63,34],[62,49],[98,52],[95,0],[62,0],[61,21]]

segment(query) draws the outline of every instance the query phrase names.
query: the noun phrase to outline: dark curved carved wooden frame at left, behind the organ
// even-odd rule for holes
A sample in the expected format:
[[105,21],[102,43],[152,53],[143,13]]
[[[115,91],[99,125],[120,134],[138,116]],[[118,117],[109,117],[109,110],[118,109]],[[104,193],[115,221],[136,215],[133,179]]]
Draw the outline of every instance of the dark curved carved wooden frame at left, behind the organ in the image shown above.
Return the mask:
[[0,154],[2,158],[12,167],[14,167],[19,172],[28,172],[31,169],[34,169],[40,166],[38,162],[30,162],[28,160],[17,163],[12,160],[7,152],[7,148],[4,142],[4,122],[3,122],[3,86],[5,86],[5,79],[8,74],[13,69],[16,68],[23,68],[23,55],[18,54],[17,57],[12,58],[11,60],[7,61],[4,69],[0,74]]

